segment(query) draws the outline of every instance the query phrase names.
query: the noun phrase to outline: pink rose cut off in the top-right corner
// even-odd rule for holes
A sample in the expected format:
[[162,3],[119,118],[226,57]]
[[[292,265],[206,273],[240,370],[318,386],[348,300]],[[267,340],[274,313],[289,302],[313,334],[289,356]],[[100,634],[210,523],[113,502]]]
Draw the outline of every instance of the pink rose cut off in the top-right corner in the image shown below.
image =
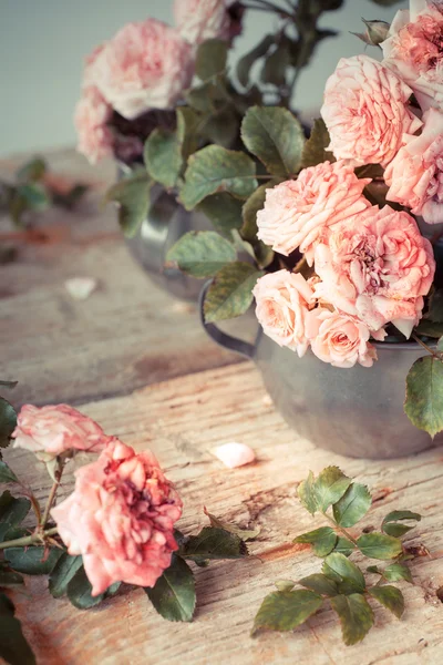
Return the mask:
[[[411,0],[411,11],[395,14],[390,37],[380,45],[384,64],[412,88],[426,111],[443,104],[443,6]],[[410,132],[411,134],[413,132]]]

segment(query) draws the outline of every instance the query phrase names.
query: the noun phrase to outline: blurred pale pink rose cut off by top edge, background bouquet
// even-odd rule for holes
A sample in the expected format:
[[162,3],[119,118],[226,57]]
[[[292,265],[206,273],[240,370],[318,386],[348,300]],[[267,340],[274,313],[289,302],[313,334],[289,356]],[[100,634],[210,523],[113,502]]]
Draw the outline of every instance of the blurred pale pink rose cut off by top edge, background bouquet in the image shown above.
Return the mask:
[[175,0],[174,18],[177,30],[189,44],[207,39],[228,40],[230,17],[226,0]]

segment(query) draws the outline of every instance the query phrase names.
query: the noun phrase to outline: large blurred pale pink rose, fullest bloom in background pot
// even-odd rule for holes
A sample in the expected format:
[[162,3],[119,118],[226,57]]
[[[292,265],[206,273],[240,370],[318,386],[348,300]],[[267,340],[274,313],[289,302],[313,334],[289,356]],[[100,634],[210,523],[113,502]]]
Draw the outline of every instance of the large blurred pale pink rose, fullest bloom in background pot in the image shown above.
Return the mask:
[[128,23],[94,57],[89,75],[127,120],[175,104],[194,72],[190,45],[177,30],[147,19]]

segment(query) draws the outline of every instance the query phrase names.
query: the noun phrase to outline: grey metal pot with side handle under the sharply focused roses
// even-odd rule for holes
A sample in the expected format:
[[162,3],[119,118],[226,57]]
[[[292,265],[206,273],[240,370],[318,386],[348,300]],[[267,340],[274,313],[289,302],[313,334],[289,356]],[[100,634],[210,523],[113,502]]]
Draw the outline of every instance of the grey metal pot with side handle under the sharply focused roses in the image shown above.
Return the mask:
[[311,351],[299,358],[261,329],[255,344],[249,344],[206,324],[207,287],[200,295],[206,332],[223,347],[254,360],[276,409],[299,436],[319,448],[369,459],[404,457],[443,442],[443,433],[432,440],[403,411],[406,375],[425,355],[416,342],[377,342],[379,360],[371,368],[340,369]]

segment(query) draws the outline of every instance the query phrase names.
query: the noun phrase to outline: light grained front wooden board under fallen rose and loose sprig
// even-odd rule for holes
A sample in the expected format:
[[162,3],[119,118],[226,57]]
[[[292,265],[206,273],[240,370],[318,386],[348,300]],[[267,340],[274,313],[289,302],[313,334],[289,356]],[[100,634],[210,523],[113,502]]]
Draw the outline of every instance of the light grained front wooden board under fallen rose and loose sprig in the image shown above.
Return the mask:
[[[203,507],[241,525],[259,525],[247,561],[197,569],[198,608],[192,624],[171,624],[150,606],[143,591],[122,590],[99,610],[80,612],[54,601],[39,579],[28,579],[34,602],[14,594],[18,615],[39,663],[44,665],[206,665],[300,663],[302,665],[436,665],[443,657],[442,451],[389,462],[351,460],[313,448],[293,433],[264,398],[258,371],[249,364],[210,369],[148,386],[126,397],[94,401],[81,410],[137,450],[150,447],[175,481],[185,510],[179,528],[205,524]],[[250,444],[257,462],[225,469],[210,450],[231,440]],[[12,468],[47,494],[49,479],[34,459],[7,451]],[[412,562],[414,585],[400,586],[406,612],[398,621],[375,608],[375,627],[364,642],[344,647],[330,610],[291,634],[249,637],[254,615],[277,579],[300,579],[321,562],[291,540],[312,521],[297,500],[308,470],[339,464],[368,483],[374,502],[365,526],[380,526],[384,514],[409,508],[423,514],[410,544],[423,542],[431,557]],[[72,469],[69,480],[72,482]],[[70,482],[64,492],[70,491]]]

